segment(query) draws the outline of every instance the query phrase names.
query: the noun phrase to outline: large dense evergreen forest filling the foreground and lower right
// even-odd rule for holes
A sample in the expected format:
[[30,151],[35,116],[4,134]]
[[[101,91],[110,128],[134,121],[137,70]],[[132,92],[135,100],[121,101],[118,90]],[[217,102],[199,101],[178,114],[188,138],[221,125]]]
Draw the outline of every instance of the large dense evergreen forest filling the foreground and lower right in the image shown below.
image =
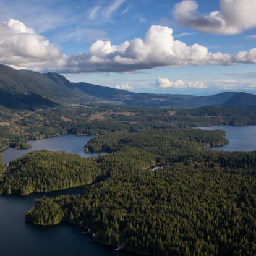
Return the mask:
[[[129,171],[109,161],[108,179],[78,197],[43,198],[26,220],[79,223],[96,241],[139,254],[255,255],[256,176],[245,167],[255,156],[205,152],[194,163],[157,171]],[[221,166],[229,159],[232,168]],[[121,161],[129,166],[129,158]]]

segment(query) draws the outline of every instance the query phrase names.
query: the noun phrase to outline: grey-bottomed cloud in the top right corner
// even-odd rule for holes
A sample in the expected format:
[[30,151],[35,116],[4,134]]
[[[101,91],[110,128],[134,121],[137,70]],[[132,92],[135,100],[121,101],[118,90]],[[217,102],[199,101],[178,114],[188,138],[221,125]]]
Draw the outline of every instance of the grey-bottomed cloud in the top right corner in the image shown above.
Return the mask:
[[256,27],[255,0],[220,0],[220,10],[197,14],[195,0],[183,0],[174,6],[177,22],[202,32],[234,35]]

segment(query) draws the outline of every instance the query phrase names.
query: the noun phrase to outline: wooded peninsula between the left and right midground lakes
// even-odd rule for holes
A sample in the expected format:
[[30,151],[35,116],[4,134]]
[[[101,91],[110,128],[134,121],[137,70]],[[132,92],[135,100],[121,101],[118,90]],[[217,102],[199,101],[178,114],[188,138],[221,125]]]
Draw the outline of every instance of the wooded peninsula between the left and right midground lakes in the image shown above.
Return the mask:
[[158,161],[171,161],[194,155],[198,150],[225,145],[228,143],[225,135],[223,130],[201,129],[154,129],[138,134],[114,132],[94,137],[85,145],[85,151],[139,148],[155,154]]

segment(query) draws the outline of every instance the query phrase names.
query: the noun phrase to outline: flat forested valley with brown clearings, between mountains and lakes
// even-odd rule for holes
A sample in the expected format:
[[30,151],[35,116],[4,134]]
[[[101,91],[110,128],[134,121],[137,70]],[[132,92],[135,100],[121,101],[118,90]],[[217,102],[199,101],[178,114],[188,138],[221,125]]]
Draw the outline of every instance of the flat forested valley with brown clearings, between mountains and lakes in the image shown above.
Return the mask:
[[11,142],[67,133],[98,135],[217,124],[256,124],[256,108],[149,109],[118,105],[60,105],[17,112],[0,107],[0,124],[0,150],[4,150]]

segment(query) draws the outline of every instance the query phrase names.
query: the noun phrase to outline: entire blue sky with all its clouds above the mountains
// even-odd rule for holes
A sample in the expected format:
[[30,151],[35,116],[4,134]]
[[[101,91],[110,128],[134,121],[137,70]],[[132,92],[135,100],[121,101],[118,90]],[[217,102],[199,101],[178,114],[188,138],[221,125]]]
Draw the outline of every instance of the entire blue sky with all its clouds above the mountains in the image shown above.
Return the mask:
[[0,62],[133,92],[256,92],[256,0],[0,0]]

